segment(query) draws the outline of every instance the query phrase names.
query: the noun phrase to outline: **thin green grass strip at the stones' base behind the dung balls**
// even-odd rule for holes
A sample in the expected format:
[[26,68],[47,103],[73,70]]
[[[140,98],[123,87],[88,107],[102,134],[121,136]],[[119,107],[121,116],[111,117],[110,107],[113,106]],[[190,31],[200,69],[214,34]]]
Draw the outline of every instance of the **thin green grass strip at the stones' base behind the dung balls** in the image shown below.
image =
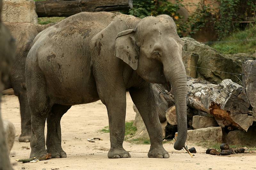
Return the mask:
[[[202,146],[205,148],[215,148],[218,152],[220,152],[220,144],[221,143],[217,143],[217,142],[199,142],[196,143],[196,145],[198,146]],[[256,147],[250,147],[250,146],[246,146],[246,145],[229,145],[229,148],[244,148],[247,147],[248,151],[256,151]]]

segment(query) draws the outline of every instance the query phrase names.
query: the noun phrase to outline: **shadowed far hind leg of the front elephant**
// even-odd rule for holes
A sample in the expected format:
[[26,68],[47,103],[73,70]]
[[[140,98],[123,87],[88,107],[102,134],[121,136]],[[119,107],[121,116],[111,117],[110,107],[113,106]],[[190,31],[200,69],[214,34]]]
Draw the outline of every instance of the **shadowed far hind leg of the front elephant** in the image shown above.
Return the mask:
[[67,154],[61,147],[61,128],[60,119],[68,111],[71,106],[55,104],[52,111],[46,118],[47,136],[46,147],[47,152],[52,154],[52,158],[66,158]]

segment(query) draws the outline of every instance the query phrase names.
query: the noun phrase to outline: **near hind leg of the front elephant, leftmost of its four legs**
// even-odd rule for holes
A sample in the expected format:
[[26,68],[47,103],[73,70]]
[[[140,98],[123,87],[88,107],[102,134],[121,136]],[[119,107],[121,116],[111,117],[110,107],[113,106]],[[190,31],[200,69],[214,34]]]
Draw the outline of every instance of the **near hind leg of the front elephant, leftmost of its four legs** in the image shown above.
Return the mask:
[[[29,55],[28,55],[29,57]],[[31,110],[30,158],[42,157],[47,154],[45,149],[44,126],[52,105],[46,92],[46,81],[37,63],[26,66],[26,84],[28,104]]]

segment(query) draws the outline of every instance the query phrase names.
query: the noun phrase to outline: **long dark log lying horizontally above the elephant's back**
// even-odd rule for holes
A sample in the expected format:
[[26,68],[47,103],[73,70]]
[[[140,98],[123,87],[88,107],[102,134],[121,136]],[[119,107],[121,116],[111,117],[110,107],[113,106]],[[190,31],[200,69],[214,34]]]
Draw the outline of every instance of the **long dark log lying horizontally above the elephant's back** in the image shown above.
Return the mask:
[[130,8],[132,0],[36,1],[38,17],[68,17],[84,11],[119,11]]

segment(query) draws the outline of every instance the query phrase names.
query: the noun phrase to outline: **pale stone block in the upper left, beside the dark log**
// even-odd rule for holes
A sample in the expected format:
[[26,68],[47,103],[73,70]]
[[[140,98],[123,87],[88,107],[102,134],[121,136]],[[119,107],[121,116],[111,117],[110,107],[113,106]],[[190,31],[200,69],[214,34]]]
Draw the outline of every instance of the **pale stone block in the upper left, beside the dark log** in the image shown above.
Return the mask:
[[34,0],[3,0],[2,21],[37,24]]

